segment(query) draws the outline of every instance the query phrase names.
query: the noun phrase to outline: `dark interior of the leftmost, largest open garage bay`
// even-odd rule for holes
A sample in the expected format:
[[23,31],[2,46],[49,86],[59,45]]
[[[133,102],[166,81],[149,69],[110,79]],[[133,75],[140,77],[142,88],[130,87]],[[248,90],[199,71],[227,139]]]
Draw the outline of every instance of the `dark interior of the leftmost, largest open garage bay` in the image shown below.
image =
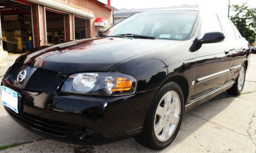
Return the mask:
[[2,45],[9,53],[33,48],[31,7],[12,1],[0,1]]

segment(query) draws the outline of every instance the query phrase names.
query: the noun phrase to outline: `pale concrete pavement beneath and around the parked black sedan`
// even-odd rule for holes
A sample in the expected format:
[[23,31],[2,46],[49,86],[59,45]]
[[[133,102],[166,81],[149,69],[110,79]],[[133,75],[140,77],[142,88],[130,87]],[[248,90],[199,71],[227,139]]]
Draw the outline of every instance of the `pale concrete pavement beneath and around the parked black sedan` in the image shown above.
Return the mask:
[[[11,55],[9,64],[16,57]],[[0,72],[1,77],[4,70]],[[0,104],[0,149],[15,142],[23,144],[0,152],[156,152],[133,138],[101,146],[41,138],[14,122]],[[175,141],[160,152],[256,152],[255,55],[251,57],[243,94],[233,97],[224,92],[186,113]]]

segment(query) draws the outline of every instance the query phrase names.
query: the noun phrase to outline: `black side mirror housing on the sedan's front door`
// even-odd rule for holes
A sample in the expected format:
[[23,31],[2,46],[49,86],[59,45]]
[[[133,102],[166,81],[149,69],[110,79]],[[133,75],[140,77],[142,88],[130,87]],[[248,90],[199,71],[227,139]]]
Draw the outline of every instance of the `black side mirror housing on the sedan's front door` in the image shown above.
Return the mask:
[[211,32],[211,33],[205,33],[203,38],[198,41],[203,44],[203,43],[221,42],[224,39],[225,39],[225,35],[222,32]]

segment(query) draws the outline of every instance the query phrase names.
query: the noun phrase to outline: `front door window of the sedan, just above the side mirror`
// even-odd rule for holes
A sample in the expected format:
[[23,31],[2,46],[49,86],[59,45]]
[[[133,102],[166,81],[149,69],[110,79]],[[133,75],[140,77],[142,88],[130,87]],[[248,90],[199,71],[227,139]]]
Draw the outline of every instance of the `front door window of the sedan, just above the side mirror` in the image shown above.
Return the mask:
[[204,15],[199,38],[202,38],[205,33],[209,32],[222,32],[220,21],[214,13],[206,13]]

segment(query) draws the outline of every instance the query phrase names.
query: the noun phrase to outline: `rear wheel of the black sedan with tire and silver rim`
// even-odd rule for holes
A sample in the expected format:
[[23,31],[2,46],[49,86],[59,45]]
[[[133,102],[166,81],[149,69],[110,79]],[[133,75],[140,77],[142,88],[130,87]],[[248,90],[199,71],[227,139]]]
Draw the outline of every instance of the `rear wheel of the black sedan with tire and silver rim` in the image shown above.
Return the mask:
[[240,95],[244,88],[244,82],[245,82],[245,71],[246,67],[245,64],[240,68],[238,78],[236,79],[236,83],[233,84],[233,86],[227,90],[227,93],[232,95]]

